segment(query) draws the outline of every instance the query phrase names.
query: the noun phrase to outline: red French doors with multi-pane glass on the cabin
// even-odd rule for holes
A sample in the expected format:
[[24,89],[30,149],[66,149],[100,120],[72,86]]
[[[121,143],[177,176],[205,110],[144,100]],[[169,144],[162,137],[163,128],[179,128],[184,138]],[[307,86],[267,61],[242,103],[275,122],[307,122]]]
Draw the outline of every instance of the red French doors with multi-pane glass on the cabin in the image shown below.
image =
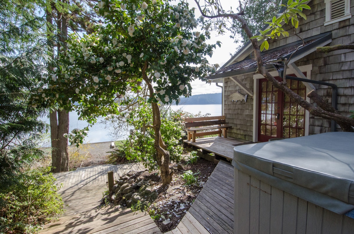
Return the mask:
[[[305,98],[306,87],[302,82],[287,79],[287,85]],[[259,80],[258,113],[258,141],[304,135],[304,108],[292,102],[266,79]]]

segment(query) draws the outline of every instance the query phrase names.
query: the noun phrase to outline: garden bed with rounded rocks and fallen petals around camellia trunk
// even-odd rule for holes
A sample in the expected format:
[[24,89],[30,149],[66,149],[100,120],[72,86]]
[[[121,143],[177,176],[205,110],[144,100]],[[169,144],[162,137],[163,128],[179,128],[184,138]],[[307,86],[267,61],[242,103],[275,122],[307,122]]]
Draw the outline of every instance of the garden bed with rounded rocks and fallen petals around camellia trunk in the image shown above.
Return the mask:
[[115,178],[104,203],[147,211],[160,230],[167,232],[177,227],[215,166],[202,158],[173,163],[175,174],[168,186],[162,186],[159,171],[126,171]]

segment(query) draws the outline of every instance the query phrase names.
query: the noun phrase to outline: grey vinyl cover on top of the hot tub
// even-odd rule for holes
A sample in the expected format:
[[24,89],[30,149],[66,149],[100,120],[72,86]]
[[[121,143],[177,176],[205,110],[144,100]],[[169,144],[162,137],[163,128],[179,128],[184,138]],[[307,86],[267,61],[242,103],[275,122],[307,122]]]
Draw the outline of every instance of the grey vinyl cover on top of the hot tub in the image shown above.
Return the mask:
[[238,170],[344,214],[354,209],[354,133],[331,132],[236,146]]

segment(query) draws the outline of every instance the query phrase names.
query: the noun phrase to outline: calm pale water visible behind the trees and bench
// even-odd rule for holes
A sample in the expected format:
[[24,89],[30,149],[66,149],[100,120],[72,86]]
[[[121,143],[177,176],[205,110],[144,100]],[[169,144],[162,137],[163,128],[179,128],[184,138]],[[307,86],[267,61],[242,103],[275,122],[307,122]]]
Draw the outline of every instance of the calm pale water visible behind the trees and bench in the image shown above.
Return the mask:
[[[210,113],[210,116],[219,116],[221,115],[221,105],[213,104],[213,105],[172,105],[172,110],[182,109],[183,111],[190,112],[193,114],[198,114],[200,111],[202,115],[206,113]],[[97,143],[97,142],[105,142],[105,141],[114,141],[114,140],[123,140],[126,139],[126,135],[121,136],[119,139],[113,139],[112,136],[109,135],[109,127],[105,128],[105,124],[101,123],[101,119],[97,120],[97,123],[93,125],[93,127],[89,127],[89,133],[85,138],[84,143]],[[42,118],[43,121],[49,124],[49,118]],[[78,115],[76,112],[69,113],[69,131],[79,128],[83,129],[87,127],[87,122],[78,120]],[[49,145],[48,145],[49,144]],[[50,140],[45,143],[45,146],[50,146]]]

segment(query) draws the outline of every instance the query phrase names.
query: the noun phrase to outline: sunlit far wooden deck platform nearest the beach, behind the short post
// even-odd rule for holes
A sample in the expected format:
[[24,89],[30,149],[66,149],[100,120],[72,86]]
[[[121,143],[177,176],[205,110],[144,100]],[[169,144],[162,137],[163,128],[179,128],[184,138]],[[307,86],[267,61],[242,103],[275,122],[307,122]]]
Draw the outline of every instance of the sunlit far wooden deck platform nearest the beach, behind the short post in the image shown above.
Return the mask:
[[62,184],[61,189],[81,187],[84,185],[96,185],[105,183],[107,180],[107,172],[113,171],[114,178],[125,174],[126,171],[143,171],[145,167],[141,163],[128,163],[120,165],[99,165],[85,166],[78,168],[76,171],[67,171],[53,174],[57,179],[57,184]]

